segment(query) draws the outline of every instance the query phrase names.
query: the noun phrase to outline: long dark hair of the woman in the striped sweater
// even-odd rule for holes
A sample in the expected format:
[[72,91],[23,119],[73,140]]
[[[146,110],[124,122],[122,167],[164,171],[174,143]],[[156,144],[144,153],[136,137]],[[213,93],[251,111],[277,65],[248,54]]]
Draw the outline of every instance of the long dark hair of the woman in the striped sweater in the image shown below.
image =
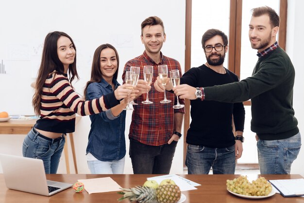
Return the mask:
[[[42,89],[48,75],[54,70],[58,73],[64,73],[64,66],[57,54],[57,41],[61,36],[68,37],[71,40],[76,51],[75,44],[72,38],[68,36],[68,34],[58,31],[47,34],[44,40],[42,59],[35,84],[35,94],[32,100],[34,112],[36,115],[40,115]],[[74,80],[75,77],[79,79],[76,70],[76,52],[74,62],[68,66],[68,75],[70,83]]]

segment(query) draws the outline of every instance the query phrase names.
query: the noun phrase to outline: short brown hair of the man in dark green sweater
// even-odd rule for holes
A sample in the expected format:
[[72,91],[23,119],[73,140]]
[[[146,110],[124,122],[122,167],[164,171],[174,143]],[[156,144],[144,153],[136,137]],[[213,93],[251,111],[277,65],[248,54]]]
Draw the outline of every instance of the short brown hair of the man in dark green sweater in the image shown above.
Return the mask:
[[253,8],[251,9],[251,11],[253,17],[259,17],[265,14],[268,15],[270,18],[271,28],[280,26],[280,17],[278,16],[278,14],[275,12],[274,9],[268,6],[262,6],[262,7]]

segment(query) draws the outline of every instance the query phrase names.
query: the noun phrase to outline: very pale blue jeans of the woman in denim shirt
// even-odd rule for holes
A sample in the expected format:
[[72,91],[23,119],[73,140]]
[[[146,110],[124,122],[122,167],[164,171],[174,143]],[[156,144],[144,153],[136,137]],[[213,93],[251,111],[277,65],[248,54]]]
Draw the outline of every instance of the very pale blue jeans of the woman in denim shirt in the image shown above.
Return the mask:
[[118,161],[87,161],[92,174],[123,174],[125,157]]

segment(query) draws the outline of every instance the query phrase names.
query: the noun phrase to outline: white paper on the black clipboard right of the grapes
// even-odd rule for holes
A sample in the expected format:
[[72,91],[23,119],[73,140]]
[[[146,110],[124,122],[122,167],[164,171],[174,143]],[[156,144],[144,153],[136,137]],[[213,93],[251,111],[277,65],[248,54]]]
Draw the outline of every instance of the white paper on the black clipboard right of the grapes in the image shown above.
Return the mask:
[[304,179],[269,180],[283,196],[304,197]]

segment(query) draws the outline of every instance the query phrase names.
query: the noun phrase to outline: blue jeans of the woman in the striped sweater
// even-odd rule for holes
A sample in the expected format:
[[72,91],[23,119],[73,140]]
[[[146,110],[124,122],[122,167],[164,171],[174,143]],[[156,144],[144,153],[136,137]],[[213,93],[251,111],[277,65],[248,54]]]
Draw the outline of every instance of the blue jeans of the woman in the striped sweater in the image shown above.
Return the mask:
[[45,173],[56,173],[65,142],[65,135],[51,139],[33,128],[24,138],[22,153],[24,157],[42,159]]

